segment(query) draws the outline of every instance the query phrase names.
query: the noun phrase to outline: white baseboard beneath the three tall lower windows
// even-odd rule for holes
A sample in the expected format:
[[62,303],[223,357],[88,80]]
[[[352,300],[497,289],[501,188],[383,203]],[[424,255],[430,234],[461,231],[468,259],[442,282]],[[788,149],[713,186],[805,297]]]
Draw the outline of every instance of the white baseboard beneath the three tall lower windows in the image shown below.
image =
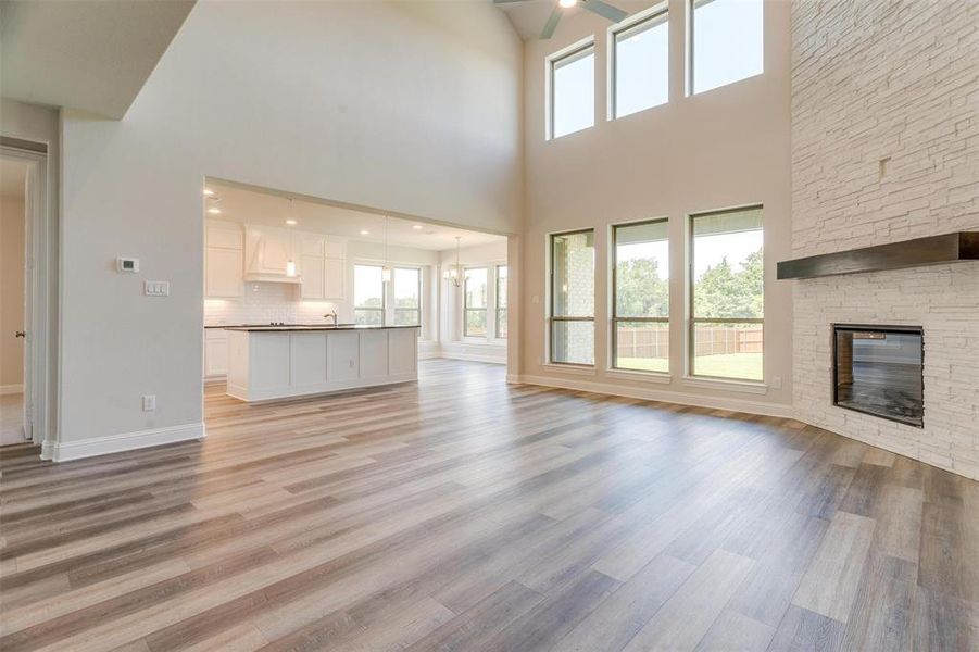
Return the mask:
[[661,401],[663,403],[677,403],[679,405],[692,405],[694,408],[708,408],[712,410],[730,410],[732,412],[746,412],[763,416],[776,416],[780,418],[798,418],[792,405],[780,403],[766,403],[763,401],[750,401],[745,399],[728,397],[708,397],[691,394],[680,391],[663,391],[662,389],[649,389],[645,387],[625,387],[610,385],[607,383],[594,383],[579,380],[577,378],[552,378],[550,376],[506,376],[507,383],[523,383],[526,385],[540,385],[543,387],[558,387],[561,389],[575,389],[590,391],[627,399],[641,399],[645,401]]

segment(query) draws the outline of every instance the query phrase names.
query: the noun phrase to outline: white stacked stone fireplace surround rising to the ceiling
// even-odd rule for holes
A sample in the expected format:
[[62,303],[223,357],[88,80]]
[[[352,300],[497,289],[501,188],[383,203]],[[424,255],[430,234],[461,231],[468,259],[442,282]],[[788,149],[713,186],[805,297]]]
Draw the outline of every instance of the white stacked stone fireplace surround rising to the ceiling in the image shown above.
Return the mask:
[[[792,38],[795,254],[979,230],[979,2],[793,0]],[[789,283],[800,418],[979,478],[979,263]],[[924,327],[922,429],[832,405],[832,323]]]

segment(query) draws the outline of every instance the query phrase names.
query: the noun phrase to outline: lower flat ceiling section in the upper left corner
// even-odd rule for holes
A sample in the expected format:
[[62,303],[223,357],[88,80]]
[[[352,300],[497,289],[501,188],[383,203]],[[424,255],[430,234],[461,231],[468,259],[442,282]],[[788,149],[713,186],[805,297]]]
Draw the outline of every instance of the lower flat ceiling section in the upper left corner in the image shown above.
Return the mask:
[[121,118],[196,0],[2,0],[4,98]]

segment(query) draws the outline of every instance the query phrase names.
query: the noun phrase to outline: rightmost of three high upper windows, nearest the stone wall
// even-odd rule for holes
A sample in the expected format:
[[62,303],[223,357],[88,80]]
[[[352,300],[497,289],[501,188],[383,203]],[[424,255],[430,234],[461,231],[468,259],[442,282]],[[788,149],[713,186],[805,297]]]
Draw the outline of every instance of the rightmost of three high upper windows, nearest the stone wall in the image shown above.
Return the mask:
[[763,0],[690,0],[690,3],[691,92],[703,92],[764,72]]

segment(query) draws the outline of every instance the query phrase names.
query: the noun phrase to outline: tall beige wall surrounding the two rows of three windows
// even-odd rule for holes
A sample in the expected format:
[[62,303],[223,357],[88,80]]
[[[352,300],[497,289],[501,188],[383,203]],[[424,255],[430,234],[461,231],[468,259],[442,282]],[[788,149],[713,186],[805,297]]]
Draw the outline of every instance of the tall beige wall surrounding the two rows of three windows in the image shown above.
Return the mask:
[[[650,3],[652,4],[652,3]],[[525,231],[522,375],[534,381],[788,414],[792,381],[791,286],[775,264],[791,258],[789,3],[765,4],[765,73],[685,97],[685,2],[669,0],[668,104],[606,121],[608,23],[582,12],[550,41],[529,40],[525,79]],[[595,35],[595,126],[544,139],[545,58]],[[735,205],[765,206],[764,393],[745,394],[682,378],[686,216]],[[669,217],[670,368],[668,385],[608,373],[608,230],[614,223]],[[547,234],[595,229],[595,372],[573,374],[544,360]],[[781,380],[781,388],[775,385]]]

